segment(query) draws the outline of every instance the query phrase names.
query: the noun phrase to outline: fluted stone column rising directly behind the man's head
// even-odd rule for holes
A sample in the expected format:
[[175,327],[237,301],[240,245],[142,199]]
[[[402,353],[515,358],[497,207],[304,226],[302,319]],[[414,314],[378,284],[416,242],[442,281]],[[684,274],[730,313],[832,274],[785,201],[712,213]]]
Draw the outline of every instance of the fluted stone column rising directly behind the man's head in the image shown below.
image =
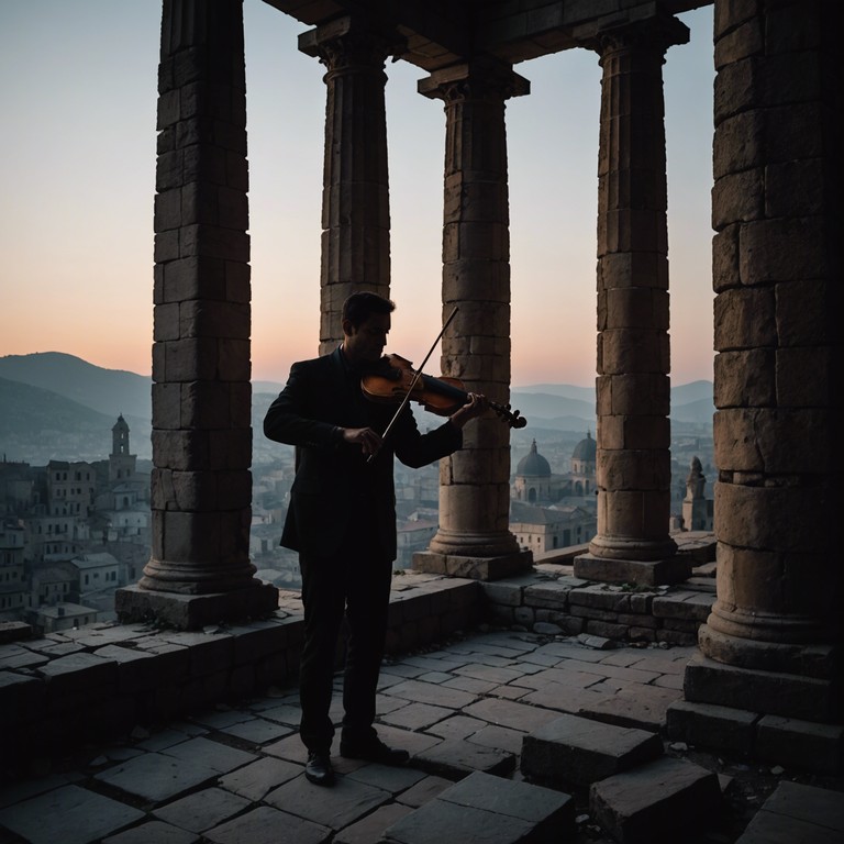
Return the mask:
[[322,193],[320,354],[343,340],[343,302],[390,292],[390,202],[384,65],[395,33],[341,18],[304,33],[299,48],[327,68]]

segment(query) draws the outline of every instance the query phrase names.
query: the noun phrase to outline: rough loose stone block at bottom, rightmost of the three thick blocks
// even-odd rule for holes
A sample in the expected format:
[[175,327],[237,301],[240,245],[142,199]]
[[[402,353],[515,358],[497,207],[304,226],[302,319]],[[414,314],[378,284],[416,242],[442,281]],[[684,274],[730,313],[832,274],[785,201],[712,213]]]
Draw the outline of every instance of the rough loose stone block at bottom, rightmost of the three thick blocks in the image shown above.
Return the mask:
[[592,819],[619,844],[686,841],[722,810],[718,776],[670,756],[615,774],[589,789]]

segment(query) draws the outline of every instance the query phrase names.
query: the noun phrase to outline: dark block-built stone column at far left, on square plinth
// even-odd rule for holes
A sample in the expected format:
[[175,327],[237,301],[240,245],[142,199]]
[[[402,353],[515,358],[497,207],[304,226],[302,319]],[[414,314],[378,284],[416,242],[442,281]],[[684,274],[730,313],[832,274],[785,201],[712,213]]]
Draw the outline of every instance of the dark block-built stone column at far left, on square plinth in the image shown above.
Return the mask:
[[165,0],[155,198],[152,557],[124,620],[268,613],[253,577],[242,0]]

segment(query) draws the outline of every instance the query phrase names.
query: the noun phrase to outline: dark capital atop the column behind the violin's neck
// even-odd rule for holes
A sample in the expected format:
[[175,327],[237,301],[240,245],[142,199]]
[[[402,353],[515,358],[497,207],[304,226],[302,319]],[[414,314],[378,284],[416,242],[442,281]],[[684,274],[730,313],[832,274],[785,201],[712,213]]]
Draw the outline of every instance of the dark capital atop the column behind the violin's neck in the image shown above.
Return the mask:
[[455,100],[500,102],[530,93],[531,84],[514,73],[511,65],[481,56],[434,70],[426,79],[419,80],[418,90],[423,97],[446,103]]

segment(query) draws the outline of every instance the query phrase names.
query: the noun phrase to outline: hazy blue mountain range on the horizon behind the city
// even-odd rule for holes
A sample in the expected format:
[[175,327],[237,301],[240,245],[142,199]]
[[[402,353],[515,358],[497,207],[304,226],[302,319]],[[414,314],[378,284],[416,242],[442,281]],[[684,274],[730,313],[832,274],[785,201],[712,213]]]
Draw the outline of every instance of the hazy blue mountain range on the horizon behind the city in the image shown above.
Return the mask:
[[[260,431],[264,413],[284,385],[253,382],[253,426]],[[60,352],[0,357],[0,457],[45,465],[51,459],[97,460],[111,452],[111,429],[120,414],[130,426],[130,447],[152,458],[152,378],[103,369]],[[595,388],[567,384],[514,387],[510,404],[530,429],[595,431]],[[712,384],[693,381],[671,388],[675,433],[712,430]],[[420,410],[420,413],[425,414]],[[418,417],[418,419],[421,419]],[[256,463],[270,459],[273,444],[257,434]]]

